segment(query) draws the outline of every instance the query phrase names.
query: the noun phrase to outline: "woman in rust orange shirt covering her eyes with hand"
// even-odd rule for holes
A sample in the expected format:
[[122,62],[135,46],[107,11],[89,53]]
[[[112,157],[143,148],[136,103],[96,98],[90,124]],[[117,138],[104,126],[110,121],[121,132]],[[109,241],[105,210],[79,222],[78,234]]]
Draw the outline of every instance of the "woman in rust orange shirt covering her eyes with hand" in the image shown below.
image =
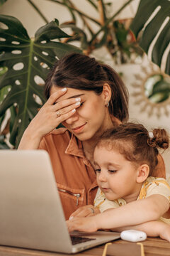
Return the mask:
[[[30,122],[18,149],[48,151],[67,219],[77,208],[94,203],[98,188],[94,148],[103,132],[128,120],[128,92],[108,65],[71,53],[52,68],[45,95],[48,100]],[[66,128],[55,129],[60,123]],[[164,177],[161,156],[157,171]],[[93,213],[95,208],[86,210]]]

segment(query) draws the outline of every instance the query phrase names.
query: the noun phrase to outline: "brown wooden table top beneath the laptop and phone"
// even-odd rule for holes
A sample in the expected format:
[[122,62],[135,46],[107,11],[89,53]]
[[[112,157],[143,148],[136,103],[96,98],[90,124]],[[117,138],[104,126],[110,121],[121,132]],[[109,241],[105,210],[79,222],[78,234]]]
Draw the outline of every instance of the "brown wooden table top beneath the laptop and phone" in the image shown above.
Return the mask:
[[[115,243],[128,243],[123,240],[116,240]],[[147,238],[142,242],[145,248],[145,256],[170,256],[170,242],[160,238]],[[76,256],[100,256],[102,255],[104,245],[93,249],[77,253]],[[16,247],[6,247],[0,245],[0,256],[64,256],[65,254],[56,252],[44,252],[39,250],[28,250]],[[68,256],[68,255],[67,255]]]

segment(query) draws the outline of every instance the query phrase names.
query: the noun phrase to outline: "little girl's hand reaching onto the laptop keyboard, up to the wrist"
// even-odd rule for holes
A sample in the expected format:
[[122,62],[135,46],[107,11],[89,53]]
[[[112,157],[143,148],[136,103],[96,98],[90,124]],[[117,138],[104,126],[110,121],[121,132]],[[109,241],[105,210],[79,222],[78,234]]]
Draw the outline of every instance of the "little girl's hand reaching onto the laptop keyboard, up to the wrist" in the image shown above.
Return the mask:
[[95,232],[98,230],[95,217],[93,216],[87,218],[74,217],[72,220],[67,220],[66,223],[69,232],[73,230]]

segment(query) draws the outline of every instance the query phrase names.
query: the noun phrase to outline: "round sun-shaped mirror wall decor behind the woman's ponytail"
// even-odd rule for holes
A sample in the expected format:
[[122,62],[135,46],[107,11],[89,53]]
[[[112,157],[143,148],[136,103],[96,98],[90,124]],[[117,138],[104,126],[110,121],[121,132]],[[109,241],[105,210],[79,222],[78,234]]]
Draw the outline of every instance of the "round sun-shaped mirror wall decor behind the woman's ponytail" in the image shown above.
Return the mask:
[[135,105],[140,105],[140,112],[146,112],[148,117],[162,114],[170,115],[170,77],[153,63],[142,64],[140,73],[132,82],[132,97]]

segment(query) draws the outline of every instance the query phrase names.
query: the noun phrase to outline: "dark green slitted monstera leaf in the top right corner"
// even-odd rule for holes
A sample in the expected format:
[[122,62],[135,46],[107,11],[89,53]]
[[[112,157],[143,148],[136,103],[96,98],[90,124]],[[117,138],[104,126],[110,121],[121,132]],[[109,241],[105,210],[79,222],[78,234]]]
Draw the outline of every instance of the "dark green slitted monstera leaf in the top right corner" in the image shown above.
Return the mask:
[[140,0],[137,14],[130,28],[136,38],[142,31],[141,48],[154,63],[170,75],[169,14],[169,0]]

